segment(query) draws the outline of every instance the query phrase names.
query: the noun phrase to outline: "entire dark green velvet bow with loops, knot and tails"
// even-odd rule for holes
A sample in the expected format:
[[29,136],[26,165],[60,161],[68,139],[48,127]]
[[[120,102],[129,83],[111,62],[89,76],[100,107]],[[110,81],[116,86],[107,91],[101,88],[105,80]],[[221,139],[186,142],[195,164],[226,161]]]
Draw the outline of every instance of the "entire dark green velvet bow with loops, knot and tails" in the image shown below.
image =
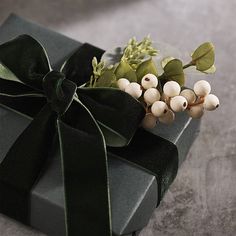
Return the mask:
[[29,221],[30,190],[59,139],[70,236],[112,235],[106,145],[128,144],[145,114],[120,90],[82,87],[91,75],[91,47],[84,44],[54,71],[28,35],[0,45],[1,103],[34,117],[0,165],[0,211]]

